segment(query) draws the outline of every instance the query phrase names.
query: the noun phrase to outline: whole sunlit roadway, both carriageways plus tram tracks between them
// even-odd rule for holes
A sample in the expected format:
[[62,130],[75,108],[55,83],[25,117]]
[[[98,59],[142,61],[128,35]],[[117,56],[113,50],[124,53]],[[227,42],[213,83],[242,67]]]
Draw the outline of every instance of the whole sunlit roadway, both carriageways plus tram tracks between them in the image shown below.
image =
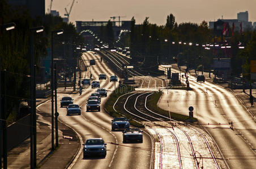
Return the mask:
[[[109,97],[110,92],[114,90],[114,83],[109,82],[110,75],[114,74],[113,69],[116,71],[123,70],[122,65],[129,65],[129,59],[117,55],[116,52],[100,52],[108,61],[108,65],[106,65],[104,61],[103,63],[100,62],[99,55],[93,55],[93,53],[84,53],[82,59],[87,65],[90,59],[96,60],[96,65],[91,66],[90,69],[94,79],[98,79],[100,73],[106,74],[108,78],[100,80],[100,84],[101,87],[108,90]],[[82,77],[88,77],[90,70],[82,72]],[[174,69],[172,71],[179,72]],[[136,107],[135,100],[143,100],[138,99],[138,97],[147,91],[163,90],[164,95],[161,97],[159,106],[168,110],[167,100],[169,100],[172,112],[185,115],[188,115],[188,107],[194,106],[194,117],[201,122],[198,127],[203,130],[207,129],[218,146],[203,130],[200,132],[206,137],[205,140],[202,135],[195,134],[195,131],[192,132],[192,129],[188,129],[186,126],[168,127],[166,120],[157,124],[153,122],[157,121],[153,119],[156,118],[155,115],[142,120],[143,123],[147,124],[142,144],[123,144],[122,132],[111,131],[113,117],[106,114],[103,109],[106,98],[103,97],[101,100],[100,112],[86,112],[86,100],[95,91],[95,89],[88,87],[83,90],[81,96],[79,94],[70,95],[74,99],[74,103],[82,106],[82,115],[67,116],[66,108],[58,108],[59,120],[72,127],[78,133],[82,143],[88,138],[102,137],[107,143],[107,155],[106,158],[83,159],[81,143],[80,152],[70,168],[199,168],[200,165],[196,162],[199,158],[195,158],[196,152],[193,152],[194,150],[203,154],[202,162],[206,168],[254,167],[256,159],[254,150],[256,147],[255,122],[231,92],[209,82],[198,83],[192,76],[189,77],[192,91],[168,90],[167,92],[164,89],[167,86],[167,81],[163,77],[151,77],[136,69],[130,69],[129,74],[134,76],[140,92],[125,97],[126,99],[130,96],[130,100],[133,102],[127,103],[128,106],[124,104],[123,112],[147,112],[148,110]],[[143,90],[144,92],[142,92]],[[67,96],[67,94],[59,93],[58,100],[63,96]],[[133,104],[134,108],[131,108]],[[59,103],[58,107],[60,107]],[[117,107],[117,109],[120,108]],[[41,105],[40,111],[50,113],[50,102]],[[139,118],[136,117],[135,119],[138,120]],[[231,129],[231,122],[233,130]],[[207,146],[206,140],[210,146]],[[189,145],[190,143],[193,146]],[[223,156],[219,154],[219,150]],[[209,153],[211,151],[214,154]]]

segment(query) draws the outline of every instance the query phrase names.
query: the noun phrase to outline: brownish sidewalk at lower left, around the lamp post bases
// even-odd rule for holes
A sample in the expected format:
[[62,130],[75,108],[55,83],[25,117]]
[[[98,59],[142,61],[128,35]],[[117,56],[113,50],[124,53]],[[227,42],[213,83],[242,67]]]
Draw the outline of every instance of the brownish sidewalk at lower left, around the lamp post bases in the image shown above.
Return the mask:
[[[49,99],[37,99],[36,105],[45,103]],[[59,147],[51,152],[51,119],[49,113],[37,110],[37,166],[46,169],[67,168],[78,153],[81,143],[74,130],[58,122]],[[8,168],[30,168],[30,138],[8,152],[7,162]]]

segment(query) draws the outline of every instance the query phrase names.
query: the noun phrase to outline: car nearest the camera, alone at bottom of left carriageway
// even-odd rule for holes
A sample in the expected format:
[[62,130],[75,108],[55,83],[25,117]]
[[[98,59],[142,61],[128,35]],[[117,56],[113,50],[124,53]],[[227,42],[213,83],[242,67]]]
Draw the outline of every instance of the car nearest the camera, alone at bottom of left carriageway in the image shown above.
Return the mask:
[[92,155],[106,157],[106,143],[102,138],[87,139],[83,145],[83,158]]

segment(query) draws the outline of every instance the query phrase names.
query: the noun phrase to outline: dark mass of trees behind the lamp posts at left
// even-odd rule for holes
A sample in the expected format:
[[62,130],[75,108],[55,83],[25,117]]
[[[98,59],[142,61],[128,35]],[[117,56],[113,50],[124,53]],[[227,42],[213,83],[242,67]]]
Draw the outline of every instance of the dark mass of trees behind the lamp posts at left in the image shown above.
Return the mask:
[[[35,63],[40,62],[48,55],[46,48],[50,47],[51,32],[63,29],[64,34],[54,37],[54,57],[73,57],[65,45],[74,48],[74,45],[83,43],[82,37],[76,33],[75,26],[64,23],[61,17],[46,15],[45,17],[31,17],[29,10],[24,7],[11,7],[6,0],[0,2],[0,25],[15,23],[15,29],[6,31],[1,26],[0,30],[0,70],[1,91],[7,91],[7,117],[12,114],[16,118],[19,103],[29,101],[30,87],[30,54],[29,36],[31,28],[44,26],[44,32],[34,33]],[[63,45],[64,44],[64,45]],[[3,70],[6,70],[7,88],[3,88]],[[39,74],[39,72],[37,73]],[[3,95],[1,94],[1,99]]]

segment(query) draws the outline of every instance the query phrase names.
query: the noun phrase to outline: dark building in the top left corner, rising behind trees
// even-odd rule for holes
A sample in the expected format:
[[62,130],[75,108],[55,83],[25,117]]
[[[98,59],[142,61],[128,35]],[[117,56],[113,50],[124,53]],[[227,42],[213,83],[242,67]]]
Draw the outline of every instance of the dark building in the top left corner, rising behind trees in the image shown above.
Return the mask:
[[45,0],[7,0],[7,3],[14,7],[23,6],[28,8],[32,17],[45,16]]

